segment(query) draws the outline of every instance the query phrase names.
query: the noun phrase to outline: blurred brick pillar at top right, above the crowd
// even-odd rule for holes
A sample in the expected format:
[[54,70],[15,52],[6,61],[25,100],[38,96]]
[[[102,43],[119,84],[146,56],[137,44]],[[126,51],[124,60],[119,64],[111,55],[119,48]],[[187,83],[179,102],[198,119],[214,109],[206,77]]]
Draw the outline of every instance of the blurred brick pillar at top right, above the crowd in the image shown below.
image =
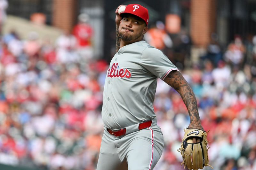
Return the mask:
[[216,0],[191,0],[190,22],[192,41],[206,47],[216,32]]

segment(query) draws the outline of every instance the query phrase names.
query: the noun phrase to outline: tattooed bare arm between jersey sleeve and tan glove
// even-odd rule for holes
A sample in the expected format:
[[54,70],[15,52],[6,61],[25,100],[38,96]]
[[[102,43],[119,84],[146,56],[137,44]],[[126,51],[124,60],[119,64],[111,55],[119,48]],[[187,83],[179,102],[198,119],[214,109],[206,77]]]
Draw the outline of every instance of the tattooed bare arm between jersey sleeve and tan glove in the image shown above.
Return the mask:
[[181,73],[179,71],[172,71],[164,79],[164,82],[180,93],[180,96],[188,109],[188,114],[190,117],[190,125],[188,128],[202,129],[195,94]]

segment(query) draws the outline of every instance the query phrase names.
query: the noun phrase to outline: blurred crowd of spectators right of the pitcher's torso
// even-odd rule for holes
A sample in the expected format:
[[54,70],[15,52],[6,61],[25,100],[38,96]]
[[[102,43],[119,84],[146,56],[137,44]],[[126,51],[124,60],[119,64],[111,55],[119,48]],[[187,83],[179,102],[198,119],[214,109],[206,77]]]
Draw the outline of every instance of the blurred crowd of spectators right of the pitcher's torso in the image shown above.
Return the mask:
[[[211,141],[208,153],[214,169],[254,170],[256,42],[245,46],[239,37],[224,52],[217,47],[218,52],[212,53],[208,49],[198,63],[182,73],[196,95],[204,130],[210,130],[207,134]],[[236,55],[241,58],[238,60]],[[182,169],[177,163],[181,158],[176,150],[184,135],[184,125],[187,127],[190,122],[187,109],[179,94],[163,81],[158,81],[154,106],[165,139],[164,156],[157,167],[160,170]]]

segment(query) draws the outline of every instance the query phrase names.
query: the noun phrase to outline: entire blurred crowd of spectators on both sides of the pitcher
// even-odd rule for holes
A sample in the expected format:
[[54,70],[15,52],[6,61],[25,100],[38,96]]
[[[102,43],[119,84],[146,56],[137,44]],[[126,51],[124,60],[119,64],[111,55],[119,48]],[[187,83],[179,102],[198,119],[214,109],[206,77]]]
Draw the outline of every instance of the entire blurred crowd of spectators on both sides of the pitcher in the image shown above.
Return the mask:
[[[84,23],[86,16],[81,19]],[[56,42],[40,40],[36,32],[27,39],[20,39],[15,30],[1,36],[0,163],[54,170],[96,168],[108,63],[93,58],[93,30],[83,23]],[[156,26],[163,28],[161,23]],[[77,34],[81,30],[87,34]],[[149,33],[157,37],[155,31]],[[206,53],[186,67],[193,44],[189,36],[160,32],[165,37],[158,38],[161,50],[190,83],[204,130],[210,130],[210,164],[223,170],[256,169],[256,37],[245,42],[236,36],[221,48],[213,36]],[[185,104],[159,79],[154,108],[165,141],[155,169],[183,169],[177,149],[189,124]]]

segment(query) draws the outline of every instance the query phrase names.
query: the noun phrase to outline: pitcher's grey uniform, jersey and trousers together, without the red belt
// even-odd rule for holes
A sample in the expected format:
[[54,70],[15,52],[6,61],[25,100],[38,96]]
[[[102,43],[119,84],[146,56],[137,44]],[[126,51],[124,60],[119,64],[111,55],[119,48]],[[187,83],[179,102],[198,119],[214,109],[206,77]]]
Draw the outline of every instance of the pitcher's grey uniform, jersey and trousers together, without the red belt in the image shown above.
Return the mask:
[[[153,102],[157,77],[164,78],[176,66],[158,49],[145,41],[126,45],[112,58],[103,92],[102,137],[97,170],[120,168],[127,161],[129,170],[150,170],[161,157],[164,141],[156,123]],[[115,137],[108,129],[121,129],[152,120],[151,127]],[[139,154],[139,155],[136,155]]]

